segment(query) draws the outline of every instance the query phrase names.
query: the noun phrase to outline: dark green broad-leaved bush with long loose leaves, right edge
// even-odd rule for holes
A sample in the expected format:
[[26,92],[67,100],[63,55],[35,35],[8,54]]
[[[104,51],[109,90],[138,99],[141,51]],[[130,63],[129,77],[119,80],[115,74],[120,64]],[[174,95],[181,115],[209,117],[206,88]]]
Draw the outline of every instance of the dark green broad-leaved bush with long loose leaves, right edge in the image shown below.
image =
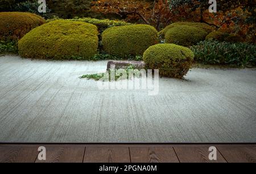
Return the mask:
[[249,66],[256,65],[256,45],[202,41],[191,47],[195,60],[205,64]]

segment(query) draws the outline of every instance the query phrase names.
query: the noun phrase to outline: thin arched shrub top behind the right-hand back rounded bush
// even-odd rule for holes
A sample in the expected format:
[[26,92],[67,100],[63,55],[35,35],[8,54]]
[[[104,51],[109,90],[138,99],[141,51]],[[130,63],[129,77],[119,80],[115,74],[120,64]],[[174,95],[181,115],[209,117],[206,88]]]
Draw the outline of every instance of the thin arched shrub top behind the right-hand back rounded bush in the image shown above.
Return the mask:
[[205,23],[199,23],[199,22],[176,22],[176,23],[172,23],[172,24],[166,26],[166,28],[162,29],[162,31],[159,32],[159,35],[162,38],[164,38],[164,36],[166,35],[166,32],[168,31],[168,29],[174,28],[174,27],[179,27],[179,26],[197,27],[197,28],[203,29],[207,33],[210,33],[210,32],[213,31],[213,28],[210,27],[208,24],[205,24]]

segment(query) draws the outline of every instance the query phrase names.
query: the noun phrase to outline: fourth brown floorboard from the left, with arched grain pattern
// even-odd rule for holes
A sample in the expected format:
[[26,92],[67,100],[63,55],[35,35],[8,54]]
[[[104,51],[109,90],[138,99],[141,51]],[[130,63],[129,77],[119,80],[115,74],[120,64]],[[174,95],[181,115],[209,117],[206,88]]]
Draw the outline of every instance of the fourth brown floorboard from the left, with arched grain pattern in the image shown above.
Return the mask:
[[130,147],[132,163],[179,163],[172,147]]

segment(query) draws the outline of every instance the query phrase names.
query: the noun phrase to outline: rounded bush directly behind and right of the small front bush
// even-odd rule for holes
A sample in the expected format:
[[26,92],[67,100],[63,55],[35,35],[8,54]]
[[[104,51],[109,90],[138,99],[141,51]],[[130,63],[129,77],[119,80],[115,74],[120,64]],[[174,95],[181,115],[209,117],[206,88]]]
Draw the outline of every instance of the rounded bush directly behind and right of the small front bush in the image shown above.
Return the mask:
[[165,38],[166,43],[177,44],[181,46],[192,46],[203,41],[207,36],[201,28],[192,26],[178,26],[168,29]]

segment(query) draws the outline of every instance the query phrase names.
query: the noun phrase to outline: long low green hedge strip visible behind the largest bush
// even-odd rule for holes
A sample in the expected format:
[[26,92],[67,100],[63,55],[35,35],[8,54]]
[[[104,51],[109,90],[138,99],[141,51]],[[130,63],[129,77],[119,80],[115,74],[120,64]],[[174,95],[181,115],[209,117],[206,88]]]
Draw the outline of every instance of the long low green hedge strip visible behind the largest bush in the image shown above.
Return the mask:
[[74,18],[74,19],[53,18],[53,19],[48,19],[47,22],[51,22],[53,20],[79,21],[79,22],[86,22],[86,23],[94,24],[95,26],[98,27],[98,31],[100,33],[102,33],[105,29],[110,28],[110,27],[132,25],[131,23],[127,23],[123,20],[109,20],[109,19],[95,19],[95,18]]

